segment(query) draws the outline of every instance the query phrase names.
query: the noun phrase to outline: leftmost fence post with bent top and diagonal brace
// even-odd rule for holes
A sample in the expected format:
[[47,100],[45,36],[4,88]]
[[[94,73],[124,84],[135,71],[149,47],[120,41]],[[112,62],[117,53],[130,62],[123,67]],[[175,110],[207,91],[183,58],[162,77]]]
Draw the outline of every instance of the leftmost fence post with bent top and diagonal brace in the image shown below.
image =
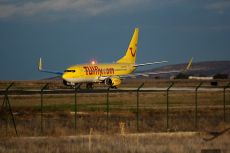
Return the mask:
[[[4,100],[3,100],[3,103],[2,103],[2,107],[1,107],[1,110],[5,111],[4,109],[9,109],[10,111],[10,115],[11,115],[11,118],[12,118],[12,121],[13,121],[13,124],[14,124],[14,130],[15,130],[15,133],[16,135],[18,136],[18,131],[17,131],[17,128],[16,128],[16,123],[15,123],[15,119],[14,119],[14,115],[13,115],[13,112],[12,112],[12,108],[11,108],[11,104],[10,104],[10,100],[9,100],[9,97],[8,97],[8,91],[9,89],[14,85],[14,82],[12,82],[5,90],[5,97],[4,97]],[[4,108],[5,107],[5,108]],[[8,114],[6,115],[6,135],[8,133]]]

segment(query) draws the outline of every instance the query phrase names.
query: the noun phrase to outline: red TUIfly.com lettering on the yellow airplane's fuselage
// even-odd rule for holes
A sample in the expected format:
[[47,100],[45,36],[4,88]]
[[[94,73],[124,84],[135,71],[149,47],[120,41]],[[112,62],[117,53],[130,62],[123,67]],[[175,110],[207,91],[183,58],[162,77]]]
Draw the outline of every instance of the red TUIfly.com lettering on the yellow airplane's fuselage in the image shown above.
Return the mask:
[[109,75],[114,74],[114,68],[99,68],[98,66],[84,66],[86,75]]

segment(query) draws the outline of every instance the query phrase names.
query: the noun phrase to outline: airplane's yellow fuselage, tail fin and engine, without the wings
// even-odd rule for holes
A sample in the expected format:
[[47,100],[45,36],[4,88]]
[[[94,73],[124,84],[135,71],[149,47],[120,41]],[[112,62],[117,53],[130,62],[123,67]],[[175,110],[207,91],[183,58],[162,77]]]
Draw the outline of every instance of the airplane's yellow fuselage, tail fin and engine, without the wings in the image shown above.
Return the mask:
[[116,63],[74,65],[67,68],[62,78],[66,81],[72,80],[71,82],[80,83],[90,82],[90,80],[93,80],[93,82],[102,82],[100,78],[110,77],[113,79],[113,86],[121,84],[121,80],[117,77],[130,74],[136,69],[134,65],[136,61],[138,31],[138,28],[135,28],[125,56]]

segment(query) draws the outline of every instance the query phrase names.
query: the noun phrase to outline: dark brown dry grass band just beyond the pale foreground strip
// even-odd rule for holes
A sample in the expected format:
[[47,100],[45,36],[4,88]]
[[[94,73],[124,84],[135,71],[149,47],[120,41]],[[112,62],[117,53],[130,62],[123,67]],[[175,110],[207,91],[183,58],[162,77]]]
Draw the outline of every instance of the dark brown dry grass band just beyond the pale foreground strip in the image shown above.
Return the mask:
[[[228,110],[229,112],[229,110]],[[171,109],[169,112],[169,129],[166,127],[166,110],[153,109],[142,110],[139,114],[140,132],[162,132],[162,131],[218,131],[230,127],[230,113],[227,114],[227,122],[223,121],[223,112],[220,109],[199,110],[198,128],[194,124],[194,111],[185,109]],[[119,123],[125,123],[128,133],[137,131],[136,113],[127,111],[110,111],[107,120],[106,112],[78,112],[77,134],[87,134],[90,128],[97,133],[119,133]],[[74,113],[44,112],[43,133],[41,133],[40,113],[25,111],[15,115],[17,130],[20,136],[66,136],[75,134]],[[6,124],[0,120],[0,135],[15,136],[12,122]],[[108,126],[108,131],[107,131]],[[7,135],[6,135],[7,134]]]

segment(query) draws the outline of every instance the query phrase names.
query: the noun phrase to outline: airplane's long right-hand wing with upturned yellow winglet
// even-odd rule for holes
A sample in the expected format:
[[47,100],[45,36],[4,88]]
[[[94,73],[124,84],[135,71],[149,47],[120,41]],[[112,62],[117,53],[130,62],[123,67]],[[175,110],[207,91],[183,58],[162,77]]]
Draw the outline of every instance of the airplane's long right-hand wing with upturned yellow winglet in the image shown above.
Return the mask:
[[[192,65],[193,58],[190,59],[188,65],[186,66],[185,69],[182,70],[172,70],[172,71],[158,71],[158,72],[146,72],[146,73],[132,73],[128,75],[121,75],[119,76],[120,78],[135,78],[137,76],[144,76],[148,77],[149,75],[157,75],[157,74],[172,74],[172,73],[182,73],[190,70],[190,67]],[[165,62],[165,61],[163,61]]]

